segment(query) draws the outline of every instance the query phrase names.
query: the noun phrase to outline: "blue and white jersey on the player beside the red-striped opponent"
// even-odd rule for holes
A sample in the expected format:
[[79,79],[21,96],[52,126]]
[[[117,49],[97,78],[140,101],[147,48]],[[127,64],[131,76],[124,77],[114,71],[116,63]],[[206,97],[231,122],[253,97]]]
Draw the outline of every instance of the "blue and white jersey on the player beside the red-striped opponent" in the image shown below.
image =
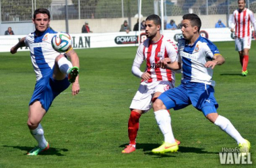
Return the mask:
[[213,69],[204,66],[215,54],[220,54],[218,48],[206,38],[199,36],[192,46],[181,38],[178,42],[178,61],[181,62],[183,73],[181,80],[215,86]]

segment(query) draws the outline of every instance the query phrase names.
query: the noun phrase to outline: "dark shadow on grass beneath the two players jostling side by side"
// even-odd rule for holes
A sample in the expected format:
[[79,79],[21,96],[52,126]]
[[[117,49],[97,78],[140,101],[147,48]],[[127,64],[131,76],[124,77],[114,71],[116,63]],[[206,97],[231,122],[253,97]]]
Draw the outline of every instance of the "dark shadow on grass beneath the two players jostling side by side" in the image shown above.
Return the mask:
[[[127,144],[122,144],[121,148],[125,149],[125,146]],[[158,148],[160,146],[160,144],[144,144],[144,143],[137,143],[136,144],[136,149],[143,149],[144,152],[146,152],[145,154],[147,155],[156,155],[154,153],[152,153],[152,149]],[[218,153],[212,153],[212,152],[207,152],[204,151],[205,149],[201,149],[201,148],[194,148],[194,147],[187,147],[187,146],[179,146],[179,151],[178,153],[204,153],[204,154],[218,154]],[[172,155],[160,155],[160,157],[175,157]]]

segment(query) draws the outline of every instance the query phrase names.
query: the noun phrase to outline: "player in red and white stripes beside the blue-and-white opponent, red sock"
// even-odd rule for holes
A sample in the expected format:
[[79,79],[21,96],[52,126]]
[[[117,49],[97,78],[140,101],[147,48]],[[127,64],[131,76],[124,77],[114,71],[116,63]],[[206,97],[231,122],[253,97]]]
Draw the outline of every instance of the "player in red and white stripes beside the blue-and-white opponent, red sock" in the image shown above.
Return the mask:
[[[128,121],[129,145],[122,153],[135,151],[137,131],[139,130],[139,118],[141,114],[152,108],[152,102],[164,91],[174,87],[174,72],[158,67],[158,60],[168,59],[177,61],[177,46],[172,40],[160,34],[161,19],[158,15],[150,15],[146,18],[147,40],[141,43],[137,49],[133,67],[133,75],[141,78],[139,89],[131,102],[131,114]],[[140,67],[146,61],[146,71],[141,72]],[[166,115],[162,124],[170,124],[170,115]],[[158,124],[160,123],[157,121]],[[169,136],[167,138],[170,138]],[[166,140],[166,139],[165,139]],[[168,141],[168,139],[166,140]],[[179,144],[179,142],[177,142]]]

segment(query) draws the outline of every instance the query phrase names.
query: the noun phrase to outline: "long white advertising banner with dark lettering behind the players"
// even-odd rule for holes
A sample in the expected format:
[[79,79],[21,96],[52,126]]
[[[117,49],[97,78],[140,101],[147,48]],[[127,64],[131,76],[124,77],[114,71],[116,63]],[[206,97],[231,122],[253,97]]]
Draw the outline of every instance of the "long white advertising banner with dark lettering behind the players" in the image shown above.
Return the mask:
[[[207,32],[207,34],[209,35],[209,40],[211,40],[212,42],[234,41],[230,36],[231,32],[229,28],[212,28],[204,30],[205,32]],[[174,41],[175,34],[181,34],[181,30],[164,30],[163,34],[167,38],[170,38],[170,40]],[[137,36],[139,36],[138,32],[129,32],[129,34],[127,34],[126,32],[92,33],[90,34],[90,37],[86,36],[85,34],[70,35],[73,39],[74,49],[115,47],[120,46],[120,43],[123,43],[123,45],[121,46],[139,45],[139,42],[137,42]],[[17,44],[19,38],[23,38],[24,36],[26,35],[0,36],[0,52],[9,52],[11,47]],[[144,38],[146,38],[146,36],[142,37],[143,38],[141,38],[141,41],[143,41]],[[119,44],[116,43],[115,40],[118,40]],[[22,47],[18,51],[22,50],[28,51],[28,48]]]

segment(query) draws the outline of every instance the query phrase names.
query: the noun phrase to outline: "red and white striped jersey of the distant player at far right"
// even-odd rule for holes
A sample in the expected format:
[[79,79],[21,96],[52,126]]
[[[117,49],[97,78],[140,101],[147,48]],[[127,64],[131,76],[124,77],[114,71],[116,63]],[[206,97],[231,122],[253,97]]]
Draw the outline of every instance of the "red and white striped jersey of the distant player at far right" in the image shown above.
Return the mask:
[[251,23],[255,24],[255,22],[256,20],[251,10],[245,8],[243,11],[239,11],[236,9],[232,16],[232,25],[235,25],[236,37],[251,37]]

